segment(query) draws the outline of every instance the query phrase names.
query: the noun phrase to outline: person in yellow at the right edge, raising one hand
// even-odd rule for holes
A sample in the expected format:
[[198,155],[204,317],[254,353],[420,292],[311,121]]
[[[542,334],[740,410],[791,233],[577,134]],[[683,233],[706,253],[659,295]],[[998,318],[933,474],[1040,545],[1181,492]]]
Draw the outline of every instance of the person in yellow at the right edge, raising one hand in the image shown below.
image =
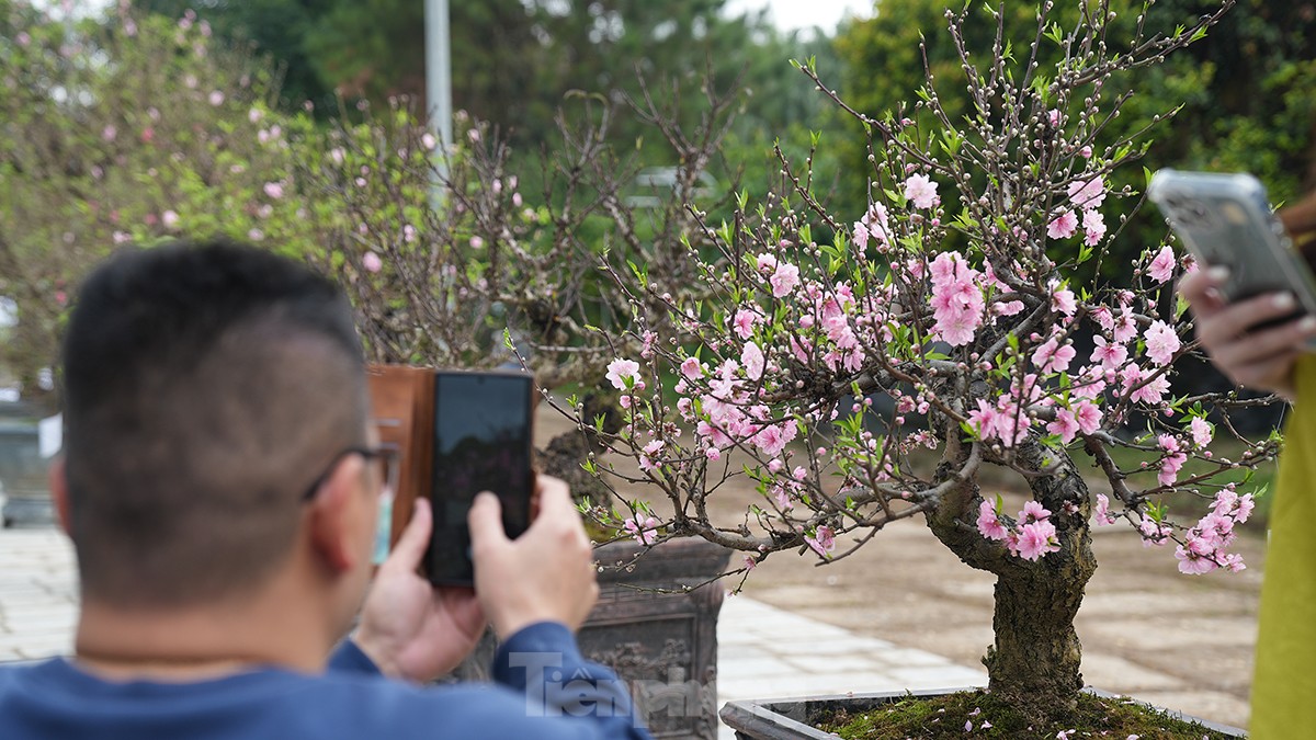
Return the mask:
[[[1300,237],[1316,230],[1316,195],[1279,213],[1284,228]],[[1270,294],[1225,303],[1221,288],[1229,271],[1208,266],[1179,283],[1192,307],[1198,340],[1234,383],[1275,391],[1296,402],[1284,429],[1286,452],[1271,494],[1266,579],[1261,590],[1257,657],[1252,682],[1249,737],[1283,740],[1307,736],[1316,697],[1316,317],[1255,328],[1292,315],[1290,294]],[[1304,400],[1305,399],[1305,400]]]

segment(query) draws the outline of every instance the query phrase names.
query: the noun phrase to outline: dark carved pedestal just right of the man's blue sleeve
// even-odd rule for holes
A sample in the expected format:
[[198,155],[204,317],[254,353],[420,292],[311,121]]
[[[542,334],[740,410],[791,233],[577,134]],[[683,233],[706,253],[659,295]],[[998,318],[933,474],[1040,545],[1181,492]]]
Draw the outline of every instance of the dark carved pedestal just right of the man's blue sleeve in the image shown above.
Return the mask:
[[[595,552],[607,568],[599,574],[599,603],[580,629],[580,650],[626,682],[654,737],[713,740],[724,593],[708,581],[726,568],[730,550],[672,540],[629,565],[641,550],[626,541]],[[695,589],[680,593],[687,586]]]

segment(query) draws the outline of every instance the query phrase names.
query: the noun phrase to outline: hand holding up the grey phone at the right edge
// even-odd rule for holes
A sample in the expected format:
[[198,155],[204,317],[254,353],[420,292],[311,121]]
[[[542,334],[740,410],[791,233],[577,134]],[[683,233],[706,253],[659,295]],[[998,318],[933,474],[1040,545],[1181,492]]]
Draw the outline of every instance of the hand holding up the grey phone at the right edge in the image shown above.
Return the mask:
[[1294,362],[1303,352],[1302,345],[1316,336],[1316,317],[1304,316],[1278,327],[1249,330],[1262,321],[1292,313],[1298,303],[1287,292],[1225,303],[1220,286],[1228,278],[1228,269],[1217,266],[1198,270],[1179,280],[1179,292],[1192,307],[1202,346],[1236,384],[1275,391],[1292,399]]

